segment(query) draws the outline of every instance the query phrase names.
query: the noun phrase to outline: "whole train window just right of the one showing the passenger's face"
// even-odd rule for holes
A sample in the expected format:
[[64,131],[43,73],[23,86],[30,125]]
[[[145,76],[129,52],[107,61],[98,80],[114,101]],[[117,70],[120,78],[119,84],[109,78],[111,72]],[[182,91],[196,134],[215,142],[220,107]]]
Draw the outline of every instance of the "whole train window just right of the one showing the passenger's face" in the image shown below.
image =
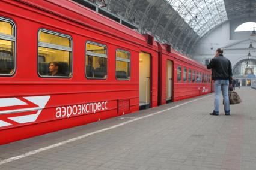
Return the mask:
[[85,56],[85,75],[87,78],[106,79],[107,76],[106,45],[87,42]]

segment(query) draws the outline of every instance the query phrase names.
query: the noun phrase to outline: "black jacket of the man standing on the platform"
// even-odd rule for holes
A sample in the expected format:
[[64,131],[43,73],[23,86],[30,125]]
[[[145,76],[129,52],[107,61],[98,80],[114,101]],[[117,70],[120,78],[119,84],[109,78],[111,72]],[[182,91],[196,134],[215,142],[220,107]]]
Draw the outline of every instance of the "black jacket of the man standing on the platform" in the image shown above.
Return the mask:
[[230,80],[232,83],[232,66],[230,60],[219,54],[219,57],[212,59],[207,65],[212,69],[212,80]]

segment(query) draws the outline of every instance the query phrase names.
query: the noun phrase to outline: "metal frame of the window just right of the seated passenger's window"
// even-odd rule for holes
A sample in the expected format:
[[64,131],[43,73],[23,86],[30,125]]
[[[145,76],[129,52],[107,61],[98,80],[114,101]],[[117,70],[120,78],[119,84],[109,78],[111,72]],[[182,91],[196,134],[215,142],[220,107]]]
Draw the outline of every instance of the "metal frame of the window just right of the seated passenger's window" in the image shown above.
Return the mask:
[[[90,43],[90,44],[93,44],[93,45],[98,45],[100,47],[105,47],[106,48],[106,54],[99,54],[99,53],[93,53],[91,51],[87,51],[87,44]],[[89,52],[89,54],[88,54]],[[90,55],[91,54],[91,55]],[[103,59],[106,59],[106,77],[105,78],[98,78],[98,77],[87,77],[86,75],[86,66],[87,66],[87,60],[86,60],[86,57],[88,56],[93,56],[94,57],[101,57]],[[106,56],[106,57],[105,57]],[[94,42],[94,41],[86,41],[85,42],[85,77],[88,79],[88,80],[106,80],[108,78],[108,46],[106,44],[100,44],[98,42]]]

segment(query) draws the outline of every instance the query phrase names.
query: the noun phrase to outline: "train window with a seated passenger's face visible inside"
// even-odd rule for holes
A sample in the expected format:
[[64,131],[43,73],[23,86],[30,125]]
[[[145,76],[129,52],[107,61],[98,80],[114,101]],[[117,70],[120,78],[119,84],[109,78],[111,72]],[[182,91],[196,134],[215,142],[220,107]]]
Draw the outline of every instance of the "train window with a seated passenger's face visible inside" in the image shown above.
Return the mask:
[[40,29],[38,74],[42,77],[72,76],[72,39],[68,35]]

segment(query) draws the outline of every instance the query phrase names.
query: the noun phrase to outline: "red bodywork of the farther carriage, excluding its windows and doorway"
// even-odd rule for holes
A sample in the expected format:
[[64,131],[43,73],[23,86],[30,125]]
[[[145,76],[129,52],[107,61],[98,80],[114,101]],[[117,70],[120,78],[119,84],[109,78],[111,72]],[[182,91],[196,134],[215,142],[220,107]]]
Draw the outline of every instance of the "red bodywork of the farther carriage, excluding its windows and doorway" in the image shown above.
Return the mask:
[[[172,92],[172,98],[171,101],[178,101],[181,99],[191,98],[198,95],[203,95],[206,93],[211,92],[211,84],[210,84],[210,74],[211,72],[206,69],[206,66],[203,66],[197,62],[195,62],[192,59],[188,59],[187,57],[184,57],[182,54],[178,53],[177,51],[171,49],[171,51],[168,53],[166,51],[166,46],[163,44],[159,45],[159,51],[161,51],[161,56],[159,56],[159,105],[163,105],[166,103],[166,91],[168,89],[167,83],[166,83],[166,63],[167,61],[172,62],[172,81],[171,81],[171,92]],[[184,82],[184,74],[183,71],[181,74],[181,81],[178,82],[177,78],[177,68],[180,67],[181,70],[183,68],[187,69],[186,77],[187,80]],[[189,69],[191,71],[197,71],[200,72],[201,75],[208,75],[209,78],[207,79],[207,82],[198,81],[198,82],[189,82],[188,78],[188,72]],[[202,77],[202,76],[201,76]],[[190,78],[192,80],[192,74],[190,75]],[[201,78],[202,80],[203,78]]]

